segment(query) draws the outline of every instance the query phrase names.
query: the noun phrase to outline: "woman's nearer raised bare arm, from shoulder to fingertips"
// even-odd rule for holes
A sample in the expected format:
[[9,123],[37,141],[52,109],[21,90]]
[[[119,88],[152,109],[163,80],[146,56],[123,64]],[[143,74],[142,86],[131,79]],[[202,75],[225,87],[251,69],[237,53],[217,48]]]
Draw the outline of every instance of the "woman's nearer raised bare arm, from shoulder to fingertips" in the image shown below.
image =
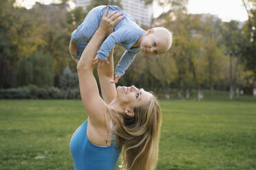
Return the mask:
[[97,124],[105,121],[105,117],[102,116],[105,113],[105,104],[98,93],[98,86],[93,75],[94,65],[92,65],[92,62],[105,36],[111,33],[114,25],[123,18],[119,17],[116,19],[120,16],[116,12],[111,12],[107,16],[107,10],[105,10],[103,18],[100,21],[100,26],[85,47],[76,67],[83,105],[90,120]]

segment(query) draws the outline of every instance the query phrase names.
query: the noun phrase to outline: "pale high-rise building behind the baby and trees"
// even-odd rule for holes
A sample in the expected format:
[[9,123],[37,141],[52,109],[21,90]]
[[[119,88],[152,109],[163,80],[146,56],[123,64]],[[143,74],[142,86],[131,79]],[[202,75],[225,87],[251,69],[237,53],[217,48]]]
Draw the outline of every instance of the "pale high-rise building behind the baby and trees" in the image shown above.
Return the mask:
[[[83,7],[86,9],[91,0],[76,0],[76,7]],[[143,0],[121,0],[122,10],[127,14],[134,16],[138,25],[145,25],[151,27],[153,18],[153,3],[145,5]]]

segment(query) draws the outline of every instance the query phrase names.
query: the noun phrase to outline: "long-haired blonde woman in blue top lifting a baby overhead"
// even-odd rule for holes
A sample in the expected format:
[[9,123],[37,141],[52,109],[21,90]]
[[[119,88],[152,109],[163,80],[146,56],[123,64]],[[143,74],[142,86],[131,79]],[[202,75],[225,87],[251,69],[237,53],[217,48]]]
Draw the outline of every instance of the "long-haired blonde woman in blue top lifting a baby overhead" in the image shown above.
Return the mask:
[[[161,112],[156,97],[135,86],[111,84],[113,51],[109,64],[98,66],[103,99],[93,75],[96,52],[122,17],[107,10],[98,30],[83,51],[77,71],[81,98],[88,119],[70,141],[74,169],[114,169],[123,149],[124,169],[155,169],[158,158]],[[101,68],[100,68],[101,67]]]

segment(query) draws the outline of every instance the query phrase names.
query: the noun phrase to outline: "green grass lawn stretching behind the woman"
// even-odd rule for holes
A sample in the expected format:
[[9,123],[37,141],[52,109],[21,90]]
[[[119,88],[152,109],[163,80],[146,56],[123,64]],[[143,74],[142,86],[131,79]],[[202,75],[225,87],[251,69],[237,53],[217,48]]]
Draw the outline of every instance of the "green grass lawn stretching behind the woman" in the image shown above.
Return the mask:
[[[157,169],[256,169],[255,100],[160,105]],[[73,169],[70,138],[85,119],[80,100],[0,100],[0,169]]]

